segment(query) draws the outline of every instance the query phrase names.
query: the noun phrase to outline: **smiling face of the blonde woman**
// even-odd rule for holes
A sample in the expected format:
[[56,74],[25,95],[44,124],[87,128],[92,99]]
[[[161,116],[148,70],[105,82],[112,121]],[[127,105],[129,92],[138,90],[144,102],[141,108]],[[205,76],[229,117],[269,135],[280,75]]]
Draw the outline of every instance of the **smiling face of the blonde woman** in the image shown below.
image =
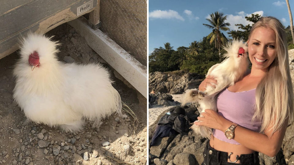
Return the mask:
[[248,40],[252,69],[267,71],[276,57],[276,33],[271,28],[256,28]]

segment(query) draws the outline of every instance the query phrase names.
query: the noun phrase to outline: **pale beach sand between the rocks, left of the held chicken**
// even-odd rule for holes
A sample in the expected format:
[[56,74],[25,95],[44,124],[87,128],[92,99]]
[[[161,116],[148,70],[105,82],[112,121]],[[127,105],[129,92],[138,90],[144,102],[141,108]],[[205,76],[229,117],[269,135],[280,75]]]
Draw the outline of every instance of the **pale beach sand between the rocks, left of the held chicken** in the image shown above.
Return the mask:
[[[180,103],[182,103],[182,97],[183,97],[183,94],[171,94],[172,96],[172,99],[174,99],[175,101],[179,101]],[[175,107],[175,106],[152,106],[152,108],[149,108],[149,114],[148,114],[148,118],[149,118],[149,126],[151,124],[153,124],[157,117],[165,110],[169,109],[169,108],[172,108],[172,107]]]

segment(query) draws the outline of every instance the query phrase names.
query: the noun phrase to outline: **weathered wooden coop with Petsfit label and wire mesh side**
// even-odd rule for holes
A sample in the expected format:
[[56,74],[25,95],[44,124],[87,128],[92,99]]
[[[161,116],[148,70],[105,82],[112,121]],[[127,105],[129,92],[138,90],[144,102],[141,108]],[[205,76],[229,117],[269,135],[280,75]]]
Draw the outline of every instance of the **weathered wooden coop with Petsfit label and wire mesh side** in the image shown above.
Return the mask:
[[1,4],[0,59],[17,51],[20,37],[28,32],[44,34],[68,22],[147,98],[145,0],[2,0]]

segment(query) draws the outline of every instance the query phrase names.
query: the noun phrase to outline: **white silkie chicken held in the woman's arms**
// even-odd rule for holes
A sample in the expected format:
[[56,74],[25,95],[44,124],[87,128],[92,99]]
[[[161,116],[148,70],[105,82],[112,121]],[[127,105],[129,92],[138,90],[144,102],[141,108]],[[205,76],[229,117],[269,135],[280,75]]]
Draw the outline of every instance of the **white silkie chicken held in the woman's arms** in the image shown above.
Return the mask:
[[[216,88],[212,86],[207,86],[206,90],[201,92],[197,89],[187,90],[183,97],[182,105],[187,102],[198,102],[198,111],[200,116],[205,109],[212,109],[217,111],[216,101],[217,95],[228,86],[232,86],[235,82],[243,77],[248,69],[248,48],[243,41],[233,40],[224,49],[228,52],[224,54],[226,58],[220,64],[215,64],[209,68],[207,75],[215,77],[217,84],[213,84]],[[199,120],[197,120],[199,122]],[[211,128],[206,126],[198,126],[193,124],[191,127],[196,133],[202,135],[202,137],[210,139],[212,133]]]

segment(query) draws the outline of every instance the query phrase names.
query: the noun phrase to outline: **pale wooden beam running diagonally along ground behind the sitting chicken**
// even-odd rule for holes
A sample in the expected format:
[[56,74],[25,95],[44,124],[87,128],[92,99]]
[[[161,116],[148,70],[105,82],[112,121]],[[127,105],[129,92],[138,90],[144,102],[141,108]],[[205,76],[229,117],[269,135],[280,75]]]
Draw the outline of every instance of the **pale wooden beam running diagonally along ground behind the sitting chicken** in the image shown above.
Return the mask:
[[87,20],[79,17],[68,22],[70,26],[85,37],[88,45],[98,53],[112,68],[122,75],[145,98],[147,98],[147,68],[99,29],[93,30]]

